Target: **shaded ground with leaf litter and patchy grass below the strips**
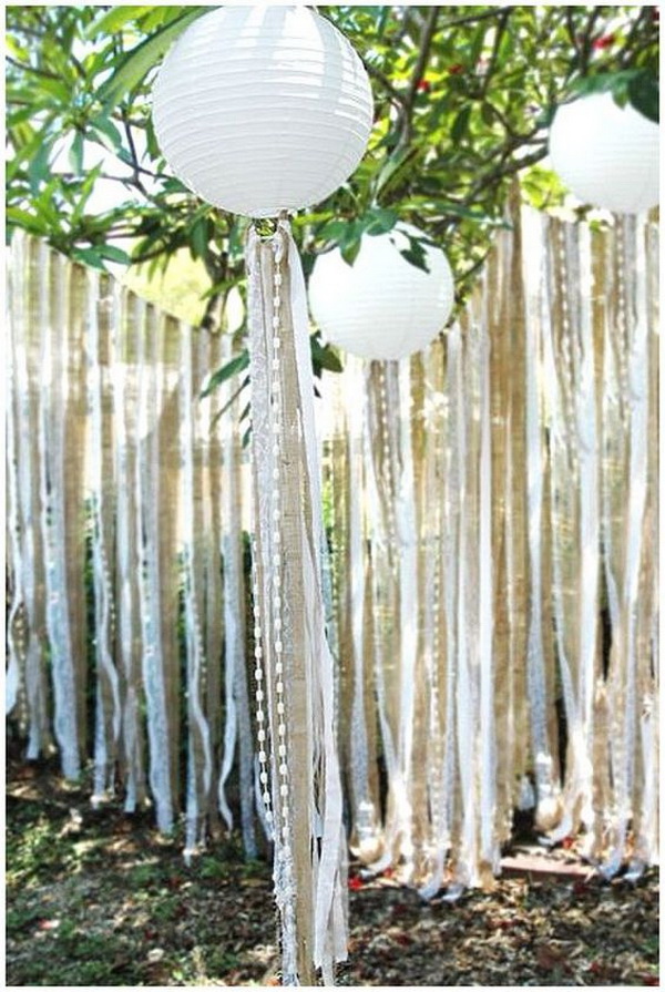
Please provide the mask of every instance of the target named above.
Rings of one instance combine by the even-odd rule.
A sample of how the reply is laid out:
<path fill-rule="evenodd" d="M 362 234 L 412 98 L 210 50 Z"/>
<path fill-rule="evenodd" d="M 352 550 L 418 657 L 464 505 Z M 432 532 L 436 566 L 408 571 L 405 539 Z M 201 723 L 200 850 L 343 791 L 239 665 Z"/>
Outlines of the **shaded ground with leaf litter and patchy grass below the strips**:
<path fill-rule="evenodd" d="M 187 868 L 150 814 L 94 811 L 52 766 L 9 764 L 8 985 L 275 985 L 270 873 L 217 843 Z M 539 880 L 535 880 L 535 879 Z M 424 903 L 351 865 L 341 985 L 657 985 L 658 876 L 502 878 Z"/>

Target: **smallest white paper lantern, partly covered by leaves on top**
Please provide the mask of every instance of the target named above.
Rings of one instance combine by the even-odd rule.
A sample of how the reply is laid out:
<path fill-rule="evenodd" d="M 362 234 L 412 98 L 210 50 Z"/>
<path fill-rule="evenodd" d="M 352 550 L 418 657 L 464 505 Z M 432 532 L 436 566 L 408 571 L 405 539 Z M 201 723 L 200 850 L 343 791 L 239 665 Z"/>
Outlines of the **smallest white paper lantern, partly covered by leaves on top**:
<path fill-rule="evenodd" d="M 331 344 L 370 359 L 406 358 L 420 351 L 450 317 L 454 286 L 443 252 L 424 245 L 423 272 L 400 253 L 407 234 L 424 237 L 400 223 L 387 234 L 364 235 L 354 265 L 339 249 L 316 260 L 309 279 L 311 316 Z"/>

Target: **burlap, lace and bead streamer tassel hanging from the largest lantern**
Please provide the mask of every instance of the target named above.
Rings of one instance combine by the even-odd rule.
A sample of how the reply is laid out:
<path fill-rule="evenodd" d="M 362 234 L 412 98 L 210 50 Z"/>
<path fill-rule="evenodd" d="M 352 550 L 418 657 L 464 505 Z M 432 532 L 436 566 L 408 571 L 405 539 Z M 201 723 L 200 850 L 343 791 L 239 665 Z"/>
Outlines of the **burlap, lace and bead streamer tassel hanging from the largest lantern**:
<path fill-rule="evenodd" d="M 311 984 L 313 967 L 331 983 L 332 962 L 346 955 L 341 787 L 305 285 L 286 222 L 265 243 L 250 229 L 247 263 L 258 618 L 284 983 Z"/>

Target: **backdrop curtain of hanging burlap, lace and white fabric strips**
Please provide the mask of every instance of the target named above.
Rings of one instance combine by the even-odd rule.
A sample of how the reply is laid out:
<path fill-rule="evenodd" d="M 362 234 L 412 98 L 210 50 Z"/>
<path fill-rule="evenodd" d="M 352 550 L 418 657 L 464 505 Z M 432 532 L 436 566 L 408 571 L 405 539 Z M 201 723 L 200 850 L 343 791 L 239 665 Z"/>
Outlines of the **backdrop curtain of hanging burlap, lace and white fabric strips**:
<path fill-rule="evenodd" d="M 438 341 L 316 400 L 347 835 L 426 897 L 491 884 L 520 809 L 607 877 L 658 857 L 658 231 L 513 221 Z M 253 857 L 231 339 L 19 235 L 7 306 L 10 733 Z"/>

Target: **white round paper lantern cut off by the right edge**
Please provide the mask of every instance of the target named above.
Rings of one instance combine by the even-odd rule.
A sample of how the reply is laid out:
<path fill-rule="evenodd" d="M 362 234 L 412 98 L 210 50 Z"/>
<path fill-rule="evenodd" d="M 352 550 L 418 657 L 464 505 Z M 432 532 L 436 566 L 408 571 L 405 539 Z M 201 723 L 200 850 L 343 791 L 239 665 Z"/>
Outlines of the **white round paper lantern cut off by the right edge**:
<path fill-rule="evenodd" d="M 611 93 L 559 108 L 550 130 L 554 171 L 584 203 L 637 214 L 658 202 L 658 125 Z"/>

